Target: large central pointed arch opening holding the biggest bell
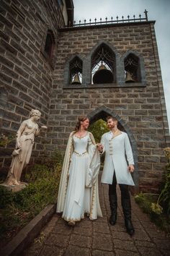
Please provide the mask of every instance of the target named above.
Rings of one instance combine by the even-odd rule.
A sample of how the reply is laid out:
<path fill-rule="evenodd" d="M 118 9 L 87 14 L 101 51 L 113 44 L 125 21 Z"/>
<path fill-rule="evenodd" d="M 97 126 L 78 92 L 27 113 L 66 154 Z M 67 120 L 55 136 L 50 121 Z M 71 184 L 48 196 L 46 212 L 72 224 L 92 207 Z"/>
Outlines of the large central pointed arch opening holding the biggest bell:
<path fill-rule="evenodd" d="M 103 43 L 91 58 L 91 84 L 113 83 L 115 74 L 115 54 Z"/>

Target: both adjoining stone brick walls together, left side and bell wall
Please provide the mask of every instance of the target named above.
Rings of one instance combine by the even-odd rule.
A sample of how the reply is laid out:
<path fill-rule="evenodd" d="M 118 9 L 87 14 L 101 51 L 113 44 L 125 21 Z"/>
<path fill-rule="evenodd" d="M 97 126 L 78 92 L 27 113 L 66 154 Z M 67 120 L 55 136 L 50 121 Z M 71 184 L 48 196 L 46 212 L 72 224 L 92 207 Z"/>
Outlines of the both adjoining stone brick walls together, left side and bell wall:
<path fill-rule="evenodd" d="M 58 1 L 1 0 L 0 4 L 0 126 L 16 134 L 31 108 L 42 113 L 48 132 L 37 137 L 31 163 L 64 150 L 77 116 L 91 122 L 117 116 L 128 133 L 135 157 L 135 183 L 143 191 L 157 191 L 164 174 L 164 148 L 169 146 L 164 89 L 154 22 L 96 27 L 64 27 Z M 47 31 L 52 30 L 52 59 L 44 53 Z M 116 56 L 117 82 L 91 85 L 91 56 L 100 43 Z M 123 60 L 128 53 L 140 59 L 141 81 L 125 83 Z M 69 61 L 83 61 L 82 85 L 68 85 Z M 0 147 L 0 174 L 6 174 L 14 141 Z"/>

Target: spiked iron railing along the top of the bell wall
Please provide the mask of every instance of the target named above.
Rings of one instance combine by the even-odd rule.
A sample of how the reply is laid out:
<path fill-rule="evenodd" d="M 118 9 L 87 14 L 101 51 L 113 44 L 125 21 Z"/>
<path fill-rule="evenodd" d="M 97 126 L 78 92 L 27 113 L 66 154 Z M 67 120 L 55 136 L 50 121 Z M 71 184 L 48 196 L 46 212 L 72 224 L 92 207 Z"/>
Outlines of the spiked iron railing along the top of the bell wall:
<path fill-rule="evenodd" d="M 84 26 L 95 26 L 95 25 L 107 25 L 107 24 L 114 24 L 114 23 L 124 23 L 124 22 L 147 22 L 148 21 L 148 12 L 145 9 L 145 17 L 142 17 L 141 14 L 139 14 L 138 17 L 136 17 L 135 15 L 133 15 L 133 18 L 130 18 L 130 15 L 128 15 L 128 17 L 125 19 L 124 16 L 122 16 L 122 19 L 119 20 L 119 17 L 116 17 L 116 20 L 113 19 L 113 17 L 111 17 L 111 20 L 108 20 L 108 18 L 106 17 L 105 20 L 103 21 L 102 18 L 99 19 L 99 22 L 97 22 L 97 19 L 94 19 L 94 22 L 89 19 L 89 22 L 87 22 L 86 20 L 84 20 L 83 23 L 81 23 L 81 20 L 79 20 L 78 23 L 76 23 L 76 21 L 73 22 L 73 25 L 68 25 L 66 27 L 84 27 Z M 70 23 L 71 24 L 71 23 Z"/>

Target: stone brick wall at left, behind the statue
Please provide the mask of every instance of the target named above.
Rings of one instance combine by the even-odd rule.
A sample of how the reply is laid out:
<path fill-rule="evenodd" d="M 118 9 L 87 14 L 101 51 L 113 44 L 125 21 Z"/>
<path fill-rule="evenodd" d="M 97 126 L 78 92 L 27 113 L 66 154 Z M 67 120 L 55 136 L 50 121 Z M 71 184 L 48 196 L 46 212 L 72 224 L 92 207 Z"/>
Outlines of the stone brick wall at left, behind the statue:
<path fill-rule="evenodd" d="M 32 108 L 41 111 L 40 123 L 47 124 L 58 27 L 63 25 L 55 0 L 1 0 L 0 128 L 4 135 L 15 135 Z M 44 55 L 48 30 L 52 30 L 55 37 L 52 61 Z M 36 138 L 32 161 L 44 152 L 44 137 L 42 134 Z M 9 168 L 13 148 L 14 142 L 0 148 L 1 171 Z"/>

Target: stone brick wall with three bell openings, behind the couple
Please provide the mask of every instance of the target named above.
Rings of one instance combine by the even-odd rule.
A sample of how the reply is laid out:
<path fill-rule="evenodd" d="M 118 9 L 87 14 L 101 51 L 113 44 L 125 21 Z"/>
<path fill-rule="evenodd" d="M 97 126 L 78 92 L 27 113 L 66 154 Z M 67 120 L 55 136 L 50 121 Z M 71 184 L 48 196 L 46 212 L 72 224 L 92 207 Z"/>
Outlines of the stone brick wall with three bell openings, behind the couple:
<path fill-rule="evenodd" d="M 166 159 L 163 149 L 169 145 L 169 129 L 154 23 L 70 28 L 60 32 L 50 98 L 50 143 L 47 149 L 53 150 L 56 145 L 66 148 L 77 116 L 89 115 L 93 121 L 114 114 L 128 135 L 134 137 L 130 142 L 137 163 L 135 182 L 143 191 L 156 191 L 164 173 Z M 130 50 L 142 56 L 146 82 L 130 85 L 117 82 L 110 86 L 66 85 L 64 76 L 69 59 L 79 54 L 85 60 L 85 69 L 89 69 L 86 59 L 102 41 L 115 48 L 120 59 Z"/>

